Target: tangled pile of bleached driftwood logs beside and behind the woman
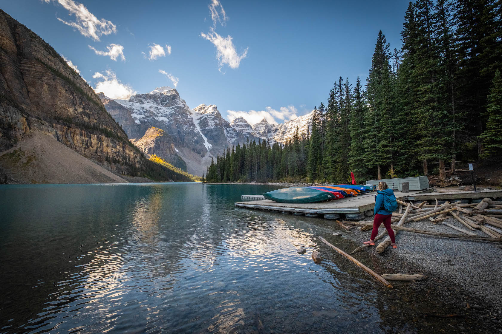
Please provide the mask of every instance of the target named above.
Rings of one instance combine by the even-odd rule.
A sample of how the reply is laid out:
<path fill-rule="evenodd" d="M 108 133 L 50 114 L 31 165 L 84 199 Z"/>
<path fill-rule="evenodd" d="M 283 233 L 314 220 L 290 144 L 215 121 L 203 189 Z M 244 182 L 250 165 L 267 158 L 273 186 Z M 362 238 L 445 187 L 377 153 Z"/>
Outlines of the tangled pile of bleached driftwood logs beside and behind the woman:
<path fill-rule="evenodd" d="M 399 210 L 398 212 L 392 214 L 393 218 L 391 220 L 393 223 L 398 222 L 397 224 L 391 225 L 396 235 L 398 234 L 398 231 L 407 231 L 448 238 L 502 242 L 502 219 L 500 219 L 502 218 L 502 202 L 496 202 L 492 201 L 490 198 L 484 198 L 480 203 L 469 204 L 461 204 L 461 201 L 457 201 L 454 203 L 446 202 L 438 205 L 437 199 L 435 205 L 427 204 L 427 202 L 414 205 L 400 200 L 398 200 L 398 203 L 400 204 Z M 403 213 L 404 206 L 406 206 L 406 210 Z M 450 218 L 450 216 L 463 224 L 467 230 L 458 228 L 443 221 Z M 441 222 L 442 224 L 463 234 L 439 233 L 403 226 L 408 222 L 420 221 L 424 219 L 428 219 L 433 224 Z M 361 230 L 369 230 L 373 225 L 372 222 L 350 221 L 344 221 L 343 224 L 362 225 Z M 487 237 L 481 237 L 471 232 L 475 230 L 482 231 L 483 234 L 487 235 Z M 384 238 L 386 234 L 387 230 L 383 231 L 375 237 L 375 241 Z M 391 238 L 387 236 L 384 241 L 376 247 L 376 252 L 382 253 L 390 244 Z M 354 254 L 368 246 L 369 245 L 359 246 L 350 254 Z"/>

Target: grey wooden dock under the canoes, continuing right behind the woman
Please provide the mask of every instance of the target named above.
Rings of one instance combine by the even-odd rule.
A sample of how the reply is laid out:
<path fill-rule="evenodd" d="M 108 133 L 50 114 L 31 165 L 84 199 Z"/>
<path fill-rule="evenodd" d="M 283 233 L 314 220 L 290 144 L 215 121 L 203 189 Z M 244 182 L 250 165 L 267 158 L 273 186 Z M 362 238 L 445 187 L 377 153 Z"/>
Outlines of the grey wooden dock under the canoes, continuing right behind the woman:
<path fill-rule="evenodd" d="M 403 193 L 395 191 L 396 198 L 400 200 L 410 201 L 434 201 L 448 199 L 476 199 L 489 197 L 495 199 L 502 197 L 502 190 L 486 190 L 486 191 L 452 191 L 452 192 L 433 192 L 434 189 L 429 188 L 422 191 L 410 191 Z M 341 214 L 346 214 L 347 219 L 362 219 L 364 216 L 373 215 L 375 203 L 374 196 L 376 192 L 369 192 L 354 197 L 346 197 L 342 199 L 332 200 L 320 203 L 278 203 L 271 200 L 259 200 L 262 195 L 244 195 L 246 198 L 253 197 L 253 200 L 246 200 L 235 203 L 235 206 L 241 208 L 272 210 L 280 212 L 291 212 L 294 214 L 306 214 L 308 216 L 324 215 L 327 219 L 338 219 Z M 244 199 L 242 196 L 242 199 Z M 364 215 L 364 213 L 366 213 Z"/>

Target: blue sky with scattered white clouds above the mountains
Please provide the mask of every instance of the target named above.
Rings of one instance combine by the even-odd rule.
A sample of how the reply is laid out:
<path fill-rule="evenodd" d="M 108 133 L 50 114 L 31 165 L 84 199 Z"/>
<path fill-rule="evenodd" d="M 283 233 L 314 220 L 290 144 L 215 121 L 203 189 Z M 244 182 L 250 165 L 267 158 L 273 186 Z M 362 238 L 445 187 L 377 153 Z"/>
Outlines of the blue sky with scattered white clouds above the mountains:
<path fill-rule="evenodd" d="M 401 47 L 409 2 L 0 0 L 110 98 L 176 88 L 229 121 L 309 113 L 338 77 L 365 83 L 379 30 Z"/>

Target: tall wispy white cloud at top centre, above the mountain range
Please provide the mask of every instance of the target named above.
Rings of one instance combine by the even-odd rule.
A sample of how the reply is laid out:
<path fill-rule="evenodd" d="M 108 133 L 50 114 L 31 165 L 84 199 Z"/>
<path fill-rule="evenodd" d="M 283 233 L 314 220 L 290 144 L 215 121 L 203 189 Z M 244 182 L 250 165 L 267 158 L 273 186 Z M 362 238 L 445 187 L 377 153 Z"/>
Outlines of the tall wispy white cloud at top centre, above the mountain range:
<path fill-rule="evenodd" d="M 235 50 L 230 35 L 222 37 L 216 33 L 217 24 L 220 23 L 221 26 L 225 26 L 228 20 L 225 10 L 218 0 L 211 0 L 209 4 L 209 13 L 211 14 L 213 26 L 209 28 L 209 33 L 200 33 L 200 37 L 208 40 L 216 47 L 216 59 L 218 60 L 218 70 L 220 72 L 224 65 L 228 65 L 231 69 L 238 68 L 240 61 L 246 58 L 248 48 L 239 55 Z"/>

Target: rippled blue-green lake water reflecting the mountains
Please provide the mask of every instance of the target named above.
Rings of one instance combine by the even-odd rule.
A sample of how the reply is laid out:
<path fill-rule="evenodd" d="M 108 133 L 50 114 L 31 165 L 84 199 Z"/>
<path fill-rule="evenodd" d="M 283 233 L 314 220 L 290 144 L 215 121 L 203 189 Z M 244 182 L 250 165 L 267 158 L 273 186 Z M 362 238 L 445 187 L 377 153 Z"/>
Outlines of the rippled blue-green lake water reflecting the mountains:
<path fill-rule="evenodd" d="M 319 241 L 357 247 L 332 235 L 336 223 L 233 205 L 277 188 L 0 186 L 0 332 L 358 333 L 437 325 L 417 321 L 399 296 Z M 296 252 L 300 246 L 306 254 Z"/>

